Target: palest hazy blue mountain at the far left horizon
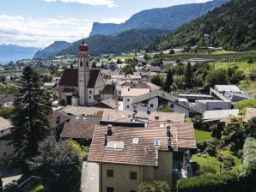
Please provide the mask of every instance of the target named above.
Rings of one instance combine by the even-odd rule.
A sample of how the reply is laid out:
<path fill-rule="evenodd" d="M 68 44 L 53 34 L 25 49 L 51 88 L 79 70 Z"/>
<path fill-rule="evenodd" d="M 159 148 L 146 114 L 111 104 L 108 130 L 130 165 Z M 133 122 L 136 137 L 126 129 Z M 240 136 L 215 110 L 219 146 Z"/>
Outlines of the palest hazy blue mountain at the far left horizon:
<path fill-rule="evenodd" d="M 17 45 L 0 45 L 0 63 L 7 64 L 20 59 L 32 58 L 39 48 Z"/>

